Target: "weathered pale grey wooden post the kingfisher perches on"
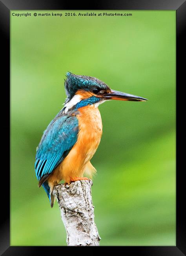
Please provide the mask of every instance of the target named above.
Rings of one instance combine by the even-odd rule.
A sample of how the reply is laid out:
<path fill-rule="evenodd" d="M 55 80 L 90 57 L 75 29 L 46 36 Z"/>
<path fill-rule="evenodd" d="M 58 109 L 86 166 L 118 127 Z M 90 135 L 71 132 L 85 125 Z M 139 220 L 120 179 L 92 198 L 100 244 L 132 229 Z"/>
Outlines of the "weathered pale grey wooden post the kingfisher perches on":
<path fill-rule="evenodd" d="M 66 228 L 67 245 L 99 245 L 101 238 L 94 222 L 91 186 L 91 180 L 78 180 L 66 186 L 60 184 L 53 189 Z"/>

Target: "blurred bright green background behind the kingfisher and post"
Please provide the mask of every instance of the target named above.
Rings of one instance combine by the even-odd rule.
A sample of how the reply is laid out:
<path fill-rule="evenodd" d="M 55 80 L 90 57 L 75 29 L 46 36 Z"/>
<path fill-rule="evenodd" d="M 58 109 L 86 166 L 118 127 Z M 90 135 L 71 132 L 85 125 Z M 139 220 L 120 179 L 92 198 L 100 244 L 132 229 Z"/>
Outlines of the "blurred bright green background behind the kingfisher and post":
<path fill-rule="evenodd" d="M 66 245 L 34 162 L 66 98 L 67 71 L 149 99 L 99 107 L 103 135 L 91 163 L 100 245 L 175 245 L 175 11 L 28 12 L 11 15 L 11 245 Z"/>

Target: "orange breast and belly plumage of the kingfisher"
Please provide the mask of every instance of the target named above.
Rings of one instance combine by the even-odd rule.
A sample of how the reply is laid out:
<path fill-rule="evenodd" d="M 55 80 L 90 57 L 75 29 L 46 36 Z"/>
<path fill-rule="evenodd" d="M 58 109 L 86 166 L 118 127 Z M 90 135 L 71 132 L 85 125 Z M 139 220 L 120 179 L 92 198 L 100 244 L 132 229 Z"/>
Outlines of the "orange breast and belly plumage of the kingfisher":
<path fill-rule="evenodd" d="M 102 135 L 102 121 L 98 108 L 94 105 L 78 109 L 79 133 L 77 143 L 50 176 L 50 182 L 69 182 L 71 178 L 82 177 L 89 161 L 95 154 Z M 94 169 L 94 168 L 93 168 Z"/>

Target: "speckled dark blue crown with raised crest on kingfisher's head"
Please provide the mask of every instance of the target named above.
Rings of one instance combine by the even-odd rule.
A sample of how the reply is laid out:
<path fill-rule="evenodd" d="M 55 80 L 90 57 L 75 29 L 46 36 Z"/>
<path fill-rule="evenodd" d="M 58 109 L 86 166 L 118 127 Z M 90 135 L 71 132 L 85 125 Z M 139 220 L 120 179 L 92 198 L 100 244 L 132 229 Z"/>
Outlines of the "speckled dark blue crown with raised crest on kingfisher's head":
<path fill-rule="evenodd" d="M 79 76 L 72 74 L 70 72 L 66 73 L 65 80 L 65 90 L 68 98 L 72 98 L 73 95 L 79 90 L 83 89 L 86 91 L 91 91 L 95 87 L 107 90 L 109 87 L 106 83 L 100 81 L 99 79 L 91 76 Z"/>

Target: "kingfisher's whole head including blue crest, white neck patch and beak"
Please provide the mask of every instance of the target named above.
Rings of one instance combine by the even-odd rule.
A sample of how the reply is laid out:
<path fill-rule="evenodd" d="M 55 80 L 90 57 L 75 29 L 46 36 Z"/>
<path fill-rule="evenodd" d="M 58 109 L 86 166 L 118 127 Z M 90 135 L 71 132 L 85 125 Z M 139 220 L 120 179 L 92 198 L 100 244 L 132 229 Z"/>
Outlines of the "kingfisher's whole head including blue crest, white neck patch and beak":
<path fill-rule="evenodd" d="M 65 80 L 65 90 L 67 99 L 65 102 L 66 111 L 73 106 L 80 108 L 91 104 L 97 106 L 106 100 L 128 100 L 128 101 L 146 101 L 136 95 L 122 93 L 109 88 L 106 83 L 91 76 L 79 76 L 67 72 Z"/>

